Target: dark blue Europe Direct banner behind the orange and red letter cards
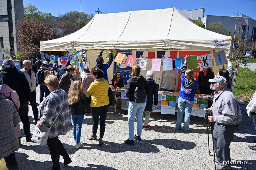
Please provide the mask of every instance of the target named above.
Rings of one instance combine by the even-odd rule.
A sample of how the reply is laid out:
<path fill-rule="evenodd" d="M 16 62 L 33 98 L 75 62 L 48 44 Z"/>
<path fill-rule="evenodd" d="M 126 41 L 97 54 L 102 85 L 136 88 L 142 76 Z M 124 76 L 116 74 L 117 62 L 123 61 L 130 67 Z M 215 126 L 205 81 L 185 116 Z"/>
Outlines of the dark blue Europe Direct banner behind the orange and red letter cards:
<path fill-rule="evenodd" d="M 115 67 L 117 67 L 116 71 L 119 71 L 121 73 L 121 77 L 123 78 L 123 84 L 126 84 L 127 80 L 131 77 L 131 67 L 126 66 L 126 60 L 129 55 L 131 55 L 131 50 L 117 50 L 117 52 L 121 52 L 125 54 L 125 58 L 120 63 L 113 62 L 114 64 L 114 70 L 113 70 L 113 76 L 115 75 Z"/>

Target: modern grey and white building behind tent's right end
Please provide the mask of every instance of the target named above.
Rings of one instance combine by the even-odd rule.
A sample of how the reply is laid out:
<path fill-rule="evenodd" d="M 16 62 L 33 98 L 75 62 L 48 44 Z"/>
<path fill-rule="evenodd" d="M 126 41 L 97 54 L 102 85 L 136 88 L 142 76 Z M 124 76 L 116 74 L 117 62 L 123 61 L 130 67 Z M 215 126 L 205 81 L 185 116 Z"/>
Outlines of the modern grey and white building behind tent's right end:
<path fill-rule="evenodd" d="M 240 20 L 240 38 L 244 40 L 244 54 L 245 51 L 249 50 L 249 46 L 252 42 L 256 42 L 256 20 L 250 18 L 246 15 L 238 16 L 215 16 L 215 15 L 206 15 L 204 17 L 197 18 L 198 21 L 202 21 L 205 26 L 209 26 L 213 22 L 221 22 L 224 27 L 229 29 L 228 35 L 238 36 L 238 25 Z M 236 33 L 235 33 L 236 25 Z"/>

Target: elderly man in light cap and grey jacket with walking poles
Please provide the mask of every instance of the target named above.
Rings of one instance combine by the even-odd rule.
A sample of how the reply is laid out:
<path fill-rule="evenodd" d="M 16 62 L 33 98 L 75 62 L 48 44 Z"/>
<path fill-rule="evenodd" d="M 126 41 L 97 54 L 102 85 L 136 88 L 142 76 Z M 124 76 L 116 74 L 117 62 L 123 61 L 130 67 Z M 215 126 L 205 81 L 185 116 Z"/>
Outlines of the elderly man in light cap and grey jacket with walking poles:
<path fill-rule="evenodd" d="M 231 169 L 229 146 L 242 121 L 240 106 L 234 94 L 226 87 L 226 78 L 216 76 L 209 79 L 209 82 L 217 94 L 214 96 L 212 107 L 204 111 L 212 112 L 213 116 L 208 116 L 209 122 L 216 122 L 213 130 L 214 150 L 218 160 L 216 169 Z"/>

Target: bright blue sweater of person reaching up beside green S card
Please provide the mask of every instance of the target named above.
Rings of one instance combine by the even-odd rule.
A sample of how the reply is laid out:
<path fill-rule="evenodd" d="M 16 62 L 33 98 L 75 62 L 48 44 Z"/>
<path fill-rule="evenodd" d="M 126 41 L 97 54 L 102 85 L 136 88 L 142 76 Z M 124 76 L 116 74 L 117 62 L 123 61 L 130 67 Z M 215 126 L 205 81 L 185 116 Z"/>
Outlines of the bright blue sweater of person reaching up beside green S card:
<path fill-rule="evenodd" d="M 181 68 L 181 75 L 180 75 L 180 90 L 179 90 L 179 97 L 183 99 L 194 101 L 195 97 L 195 90 L 198 88 L 198 81 L 194 80 L 195 84 L 191 88 L 187 88 L 185 85 L 185 81 L 187 81 L 187 77 L 185 76 L 185 71 L 187 69 L 187 63 L 184 63 Z"/>

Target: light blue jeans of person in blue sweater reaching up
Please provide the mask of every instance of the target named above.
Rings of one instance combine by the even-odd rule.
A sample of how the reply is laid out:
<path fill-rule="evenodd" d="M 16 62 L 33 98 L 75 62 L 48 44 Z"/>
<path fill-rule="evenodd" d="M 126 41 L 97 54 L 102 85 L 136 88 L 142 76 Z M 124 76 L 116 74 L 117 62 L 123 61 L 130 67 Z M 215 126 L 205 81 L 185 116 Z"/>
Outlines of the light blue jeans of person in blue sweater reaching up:
<path fill-rule="evenodd" d="M 193 101 L 189 101 L 186 99 L 183 99 L 182 97 L 179 97 L 178 100 L 178 113 L 177 113 L 177 122 L 176 122 L 176 129 L 181 128 L 181 121 L 183 118 L 183 112 L 185 110 L 185 118 L 184 118 L 184 126 L 183 130 L 187 132 L 189 130 L 189 121 L 190 121 L 190 114 L 193 108 Z"/>

